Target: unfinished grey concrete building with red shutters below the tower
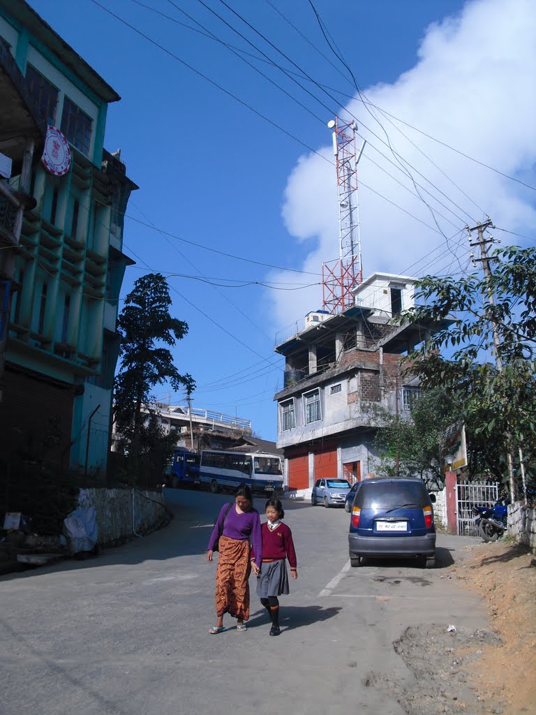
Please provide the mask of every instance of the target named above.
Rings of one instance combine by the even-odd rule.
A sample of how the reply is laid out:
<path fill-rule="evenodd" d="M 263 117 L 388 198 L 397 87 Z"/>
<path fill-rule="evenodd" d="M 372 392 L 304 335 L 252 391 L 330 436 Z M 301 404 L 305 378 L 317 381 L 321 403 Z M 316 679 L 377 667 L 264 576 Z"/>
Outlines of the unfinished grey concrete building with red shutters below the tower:
<path fill-rule="evenodd" d="M 311 312 L 304 329 L 277 345 L 284 388 L 277 400 L 277 446 L 285 484 L 308 495 L 322 477 L 360 480 L 374 468 L 373 405 L 409 414 L 418 382 L 402 375 L 400 357 L 437 325 L 400 325 L 414 305 L 415 278 L 374 273 L 338 315 Z"/>

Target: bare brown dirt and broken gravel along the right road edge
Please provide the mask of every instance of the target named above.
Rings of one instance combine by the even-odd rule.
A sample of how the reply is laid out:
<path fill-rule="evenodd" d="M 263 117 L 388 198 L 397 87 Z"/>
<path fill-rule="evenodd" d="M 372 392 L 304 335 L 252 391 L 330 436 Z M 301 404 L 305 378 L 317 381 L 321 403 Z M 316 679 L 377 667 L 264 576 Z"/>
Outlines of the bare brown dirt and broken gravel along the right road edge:
<path fill-rule="evenodd" d="M 505 541 L 478 544 L 440 578 L 478 591 L 491 629 L 407 628 L 393 648 L 411 675 L 395 680 L 371 673 L 364 684 L 384 691 L 407 715 L 536 713 L 535 559 Z"/>

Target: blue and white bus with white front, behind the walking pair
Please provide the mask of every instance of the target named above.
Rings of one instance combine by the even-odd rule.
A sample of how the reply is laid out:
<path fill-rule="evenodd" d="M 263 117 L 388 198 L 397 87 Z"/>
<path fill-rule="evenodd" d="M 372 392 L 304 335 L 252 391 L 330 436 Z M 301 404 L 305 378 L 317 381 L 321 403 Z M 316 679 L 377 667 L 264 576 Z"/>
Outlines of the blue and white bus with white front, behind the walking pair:
<path fill-rule="evenodd" d="M 212 493 L 247 484 L 252 491 L 278 493 L 283 488 L 281 457 L 259 452 L 201 451 L 199 480 Z"/>

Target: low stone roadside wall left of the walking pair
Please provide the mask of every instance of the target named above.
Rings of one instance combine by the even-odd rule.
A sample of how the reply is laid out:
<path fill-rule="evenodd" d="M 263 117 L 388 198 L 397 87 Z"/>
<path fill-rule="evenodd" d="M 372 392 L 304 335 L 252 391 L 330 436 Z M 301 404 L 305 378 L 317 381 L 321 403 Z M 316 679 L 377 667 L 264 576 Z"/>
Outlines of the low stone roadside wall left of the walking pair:
<path fill-rule="evenodd" d="M 164 497 L 162 493 L 154 491 L 81 489 L 78 504 L 81 507 L 95 507 L 101 546 L 124 543 L 134 536 L 134 531 L 143 535 L 163 526 L 167 521 Z"/>

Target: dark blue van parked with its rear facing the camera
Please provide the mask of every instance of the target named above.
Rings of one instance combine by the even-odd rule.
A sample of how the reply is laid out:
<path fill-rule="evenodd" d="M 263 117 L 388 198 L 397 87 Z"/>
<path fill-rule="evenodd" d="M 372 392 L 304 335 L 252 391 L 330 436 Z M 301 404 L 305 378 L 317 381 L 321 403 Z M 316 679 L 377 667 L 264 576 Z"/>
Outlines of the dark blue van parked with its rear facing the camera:
<path fill-rule="evenodd" d="M 363 557 L 418 557 L 435 566 L 435 524 L 432 501 L 421 479 L 367 479 L 359 483 L 351 508 L 348 545 L 350 563 Z"/>

